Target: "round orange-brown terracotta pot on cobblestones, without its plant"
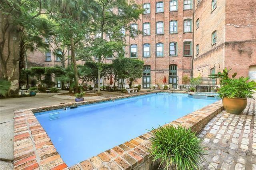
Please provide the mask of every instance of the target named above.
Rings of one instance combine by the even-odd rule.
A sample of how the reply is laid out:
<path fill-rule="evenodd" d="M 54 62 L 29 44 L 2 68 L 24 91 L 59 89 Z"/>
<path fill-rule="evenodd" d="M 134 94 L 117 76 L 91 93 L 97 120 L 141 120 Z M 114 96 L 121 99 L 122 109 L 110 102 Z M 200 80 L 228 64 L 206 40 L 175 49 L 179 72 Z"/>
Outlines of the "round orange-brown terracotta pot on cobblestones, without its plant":
<path fill-rule="evenodd" d="M 235 98 L 223 97 L 222 105 L 228 113 L 233 113 L 233 114 L 239 115 L 246 108 L 247 99 L 246 98 L 237 98 L 237 97 L 235 97 Z"/>

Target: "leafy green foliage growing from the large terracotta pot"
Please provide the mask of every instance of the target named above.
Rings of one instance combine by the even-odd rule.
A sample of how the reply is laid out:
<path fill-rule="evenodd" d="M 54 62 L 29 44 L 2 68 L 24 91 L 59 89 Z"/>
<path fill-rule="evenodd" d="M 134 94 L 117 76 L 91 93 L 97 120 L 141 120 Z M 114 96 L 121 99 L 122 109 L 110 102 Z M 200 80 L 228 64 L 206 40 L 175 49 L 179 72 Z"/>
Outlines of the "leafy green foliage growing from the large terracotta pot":
<path fill-rule="evenodd" d="M 247 82 L 249 78 L 240 77 L 239 79 L 225 79 L 225 84 L 222 84 L 218 93 L 220 97 L 228 98 L 253 98 L 252 91 L 255 88 L 254 82 Z"/>

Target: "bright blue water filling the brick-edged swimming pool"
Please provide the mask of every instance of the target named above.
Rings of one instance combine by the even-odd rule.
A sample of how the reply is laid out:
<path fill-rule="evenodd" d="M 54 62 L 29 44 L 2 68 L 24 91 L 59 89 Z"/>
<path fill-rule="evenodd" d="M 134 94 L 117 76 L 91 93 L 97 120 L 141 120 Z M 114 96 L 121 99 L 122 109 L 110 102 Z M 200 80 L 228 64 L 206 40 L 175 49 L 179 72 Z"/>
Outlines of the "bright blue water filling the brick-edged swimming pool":
<path fill-rule="evenodd" d="M 215 101 L 154 93 L 35 115 L 64 162 L 72 166 Z"/>

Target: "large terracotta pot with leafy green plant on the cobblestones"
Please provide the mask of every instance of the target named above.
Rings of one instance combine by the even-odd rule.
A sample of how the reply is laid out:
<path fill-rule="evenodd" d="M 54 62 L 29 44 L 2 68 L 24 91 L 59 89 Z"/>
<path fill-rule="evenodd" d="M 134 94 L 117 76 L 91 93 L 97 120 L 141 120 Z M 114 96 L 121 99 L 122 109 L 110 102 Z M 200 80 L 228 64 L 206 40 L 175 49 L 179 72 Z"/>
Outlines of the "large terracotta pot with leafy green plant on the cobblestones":
<path fill-rule="evenodd" d="M 247 105 L 247 98 L 253 98 L 254 82 L 247 82 L 249 78 L 227 79 L 221 85 L 218 93 L 222 98 L 224 109 L 228 113 L 240 114 Z"/>

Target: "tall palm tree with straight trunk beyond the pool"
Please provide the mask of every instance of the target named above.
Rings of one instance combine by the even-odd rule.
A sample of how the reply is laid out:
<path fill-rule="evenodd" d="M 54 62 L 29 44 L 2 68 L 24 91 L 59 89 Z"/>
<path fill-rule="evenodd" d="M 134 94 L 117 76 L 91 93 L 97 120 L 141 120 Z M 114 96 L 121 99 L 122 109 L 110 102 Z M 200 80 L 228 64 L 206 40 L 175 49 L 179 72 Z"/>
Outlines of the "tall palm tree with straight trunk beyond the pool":
<path fill-rule="evenodd" d="M 59 24 L 65 40 L 70 40 L 71 61 L 74 69 L 74 89 L 78 88 L 78 71 L 75 57 L 75 44 L 84 39 L 86 28 L 97 5 L 94 0 L 52 0 L 51 6 L 55 9 L 51 18 Z"/>

